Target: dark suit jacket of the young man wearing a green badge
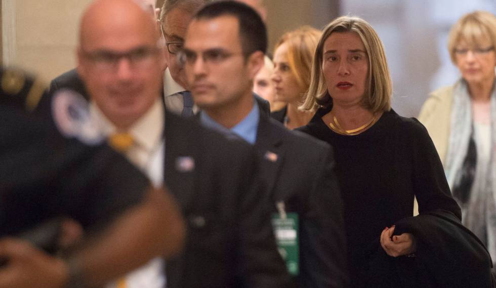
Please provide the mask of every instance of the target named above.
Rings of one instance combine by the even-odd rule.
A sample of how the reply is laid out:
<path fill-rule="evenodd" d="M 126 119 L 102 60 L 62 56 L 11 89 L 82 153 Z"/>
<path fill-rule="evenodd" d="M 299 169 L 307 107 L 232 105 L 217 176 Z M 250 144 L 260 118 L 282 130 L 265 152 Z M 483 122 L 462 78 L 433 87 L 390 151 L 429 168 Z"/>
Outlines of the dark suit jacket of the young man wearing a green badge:
<path fill-rule="evenodd" d="M 271 202 L 300 220 L 300 287 L 346 287 L 343 203 L 330 146 L 260 113 L 255 147 Z M 267 157 L 277 154 L 277 159 Z M 275 209 L 275 204 L 273 205 Z"/>

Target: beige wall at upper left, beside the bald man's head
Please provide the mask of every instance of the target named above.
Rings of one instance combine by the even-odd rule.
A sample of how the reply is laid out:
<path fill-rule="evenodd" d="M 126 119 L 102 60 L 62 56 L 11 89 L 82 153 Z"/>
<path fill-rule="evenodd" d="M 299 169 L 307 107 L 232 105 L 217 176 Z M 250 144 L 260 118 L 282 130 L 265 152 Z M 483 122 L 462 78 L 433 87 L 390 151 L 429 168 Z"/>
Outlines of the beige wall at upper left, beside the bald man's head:
<path fill-rule="evenodd" d="M 91 0 L 3 0 L 3 61 L 49 81 L 73 68 L 78 21 Z"/>

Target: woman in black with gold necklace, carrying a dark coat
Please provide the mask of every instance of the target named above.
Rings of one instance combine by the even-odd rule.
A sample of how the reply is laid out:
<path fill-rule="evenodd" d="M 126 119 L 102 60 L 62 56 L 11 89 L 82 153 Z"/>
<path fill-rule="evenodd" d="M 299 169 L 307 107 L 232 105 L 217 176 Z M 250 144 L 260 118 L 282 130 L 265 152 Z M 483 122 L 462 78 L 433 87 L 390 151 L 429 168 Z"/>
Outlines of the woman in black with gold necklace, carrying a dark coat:
<path fill-rule="evenodd" d="M 391 95 L 370 24 L 349 16 L 328 24 L 301 107 L 315 115 L 299 130 L 334 148 L 351 287 L 489 287 L 489 255 L 462 226 L 426 129 L 391 109 Z"/>

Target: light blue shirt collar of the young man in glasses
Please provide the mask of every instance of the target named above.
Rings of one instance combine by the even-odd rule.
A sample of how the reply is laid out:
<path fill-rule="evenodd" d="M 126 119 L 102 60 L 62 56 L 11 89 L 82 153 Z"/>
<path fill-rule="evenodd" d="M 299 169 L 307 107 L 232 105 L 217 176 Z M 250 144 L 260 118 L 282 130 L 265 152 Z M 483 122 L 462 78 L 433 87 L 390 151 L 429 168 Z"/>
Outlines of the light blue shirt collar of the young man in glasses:
<path fill-rule="evenodd" d="M 246 142 L 250 144 L 255 144 L 257 141 L 257 130 L 258 130 L 258 121 L 260 118 L 260 112 L 258 108 L 257 101 L 253 101 L 253 108 L 242 119 L 238 124 L 236 124 L 233 128 L 227 129 L 224 126 L 217 123 L 214 119 L 212 119 L 209 115 L 205 113 L 205 111 L 201 111 L 200 113 L 200 121 L 203 126 L 217 130 L 226 135 L 235 134 L 241 138 L 243 138 Z"/>

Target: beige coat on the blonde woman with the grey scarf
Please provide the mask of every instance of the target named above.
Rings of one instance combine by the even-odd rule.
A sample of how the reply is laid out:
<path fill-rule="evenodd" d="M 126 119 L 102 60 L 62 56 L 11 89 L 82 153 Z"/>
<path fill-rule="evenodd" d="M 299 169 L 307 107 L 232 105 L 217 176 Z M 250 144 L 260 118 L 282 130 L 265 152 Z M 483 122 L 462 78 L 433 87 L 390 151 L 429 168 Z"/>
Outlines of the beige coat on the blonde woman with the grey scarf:
<path fill-rule="evenodd" d="M 429 96 L 420 110 L 419 121 L 427 128 L 444 166 L 451 129 L 453 86 L 439 88 Z"/>

